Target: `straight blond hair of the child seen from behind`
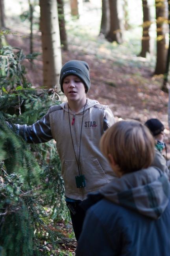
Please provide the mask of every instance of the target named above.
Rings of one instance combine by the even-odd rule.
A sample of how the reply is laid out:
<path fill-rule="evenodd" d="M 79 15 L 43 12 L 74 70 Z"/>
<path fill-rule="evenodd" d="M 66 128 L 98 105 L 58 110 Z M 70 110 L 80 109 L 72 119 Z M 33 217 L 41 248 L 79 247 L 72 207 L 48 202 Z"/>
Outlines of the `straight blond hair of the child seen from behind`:
<path fill-rule="evenodd" d="M 147 168 L 154 158 L 154 139 L 149 129 L 138 121 L 119 121 L 102 136 L 100 149 L 109 154 L 122 173 Z"/>

